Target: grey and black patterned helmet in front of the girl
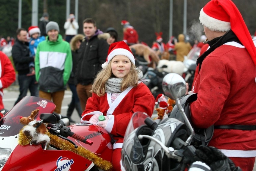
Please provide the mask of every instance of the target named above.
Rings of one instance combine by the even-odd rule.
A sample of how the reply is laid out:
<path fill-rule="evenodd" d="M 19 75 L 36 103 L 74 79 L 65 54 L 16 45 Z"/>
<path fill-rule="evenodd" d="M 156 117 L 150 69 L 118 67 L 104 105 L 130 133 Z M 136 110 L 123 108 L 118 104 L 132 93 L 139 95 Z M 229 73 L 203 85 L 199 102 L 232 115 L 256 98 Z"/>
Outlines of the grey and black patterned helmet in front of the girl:
<path fill-rule="evenodd" d="M 125 170 L 169 170 L 180 171 L 180 163 L 168 158 L 161 146 L 153 140 L 139 135 L 149 135 L 161 141 L 167 147 L 182 148 L 177 138 L 185 141 L 188 137 L 184 123 L 175 118 L 161 120 L 157 127 L 141 125 L 132 131 L 123 142 L 122 164 Z"/>

